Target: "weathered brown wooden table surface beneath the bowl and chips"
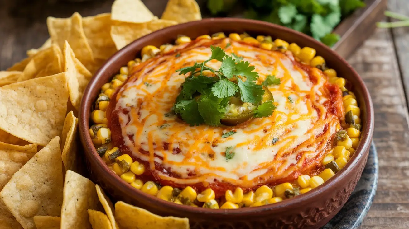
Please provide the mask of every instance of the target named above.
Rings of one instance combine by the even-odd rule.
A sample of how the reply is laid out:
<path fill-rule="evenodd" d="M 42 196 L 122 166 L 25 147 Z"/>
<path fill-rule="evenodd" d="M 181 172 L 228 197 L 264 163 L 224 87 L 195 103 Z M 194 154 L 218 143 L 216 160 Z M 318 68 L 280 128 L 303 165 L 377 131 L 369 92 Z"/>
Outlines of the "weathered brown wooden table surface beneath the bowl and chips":
<path fill-rule="evenodd" d="M 51 2 L 51 1 L 50 1 Z M 166 0 L 145 0 L 160 16 Z M 27 49 L 48 38 L 47 16 L 109 12 L 112 0 L 76 4 L 0 0 L 0 70 L 25 58 Z M 204 9 L 204 7 L 202 7 Z M 409 16 L 406 0 L 389 0 L 389 9 Z M 409 228 L 409 27 L 378 29 L 348 62 L 364 78 L 375 107 L 374 142 L 379 183 L 361 228 Z"/>

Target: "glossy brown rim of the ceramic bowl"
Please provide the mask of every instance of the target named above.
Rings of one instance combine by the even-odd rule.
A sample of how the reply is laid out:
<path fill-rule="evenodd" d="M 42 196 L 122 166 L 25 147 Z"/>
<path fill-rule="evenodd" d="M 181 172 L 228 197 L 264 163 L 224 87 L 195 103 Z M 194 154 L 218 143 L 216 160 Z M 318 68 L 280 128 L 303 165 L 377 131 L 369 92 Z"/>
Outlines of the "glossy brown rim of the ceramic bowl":
<path fill-rule="evenodd" d="M 207 24 L 207 23 L 218 23 L 218 22 L 233 22 L 233 23 L 250 23 L 262 27 L 268 27 L 270 29 L 279 29 L 288 33 L 292 33 L 294 36 L 299 36 L 302 39 L 305 39 L 307 43 L 312 43 L 315 44 L 315 46 L 320 46 L 322 49 L 326 49 L 326 51 L 330 52 L 331 55 L 333 55 L 335 58 L 337 58 L 340 62 L 342 62 L 342 65 L 346 68 L 348 68 L 352 73 L 353 73 L 353 78 L 357 79 L 357 82 L 359 83 L 359 87 L 355 86 L 355 88 L 360 88 L 360 91 L 362 93 L 362 98 L 364 98 L 364 109 L 366 112 L 364 112 L 365 115 L 365 120 L 366 120 L 366 125 L 362 127 L 362 129 L 365 130 L 362 131 L 361 133 L 361 138 L 360 138 L 360 143 L 355 150 L 355 153 L 351 157 L 351 159 L 348 161 L 347 165 L 338 173 L 335 174 L 332 178 L 327 180 L 324 185 L 320 185 L 319 187 L 312 189 L 311 191 L 308 191 L 307 193 L 303 193 L 303 195 L 296 196 L 294 198 L 291 198 L 290 200 L 274 203 L 271 205 L 264 205 L 264 206 L 259 206 L 259 207 L 243 207 L 239 209 L 208 209 L 208 208 L 202 208 L 202 207 L 192 207 L 192 206 L 187 206 L 187 205 L 178 205 L 173 202 L 168 202 L 166 200 L 162 200 L 160 198 L 157 198 L 155 196 L 148 195 L 146 193 L 143 193 L 139 189 L 135 189 L 134 187 L 130 186 L 127 182 L 122 180 L 119 176 L 117 176 L 115 173 L 113 173 L 108 166 L 106 166 L 106 163 L 100 158 L 98 155 L 92 140 L 89 135 L 89 120 L 85 119 L 87 117 L 87 113 L 89 114 L 91 112 L 91 104 L 93 101 L 92 99 L 92 93 L 91 89 L 92 87 L 95 87 L 96 84 L 98 83 L 99 78 L 103 77 L 104 73 L 109 69 L 110 64 L 121 58 L 125 53 L 130 52 L 131 50 L 136 49 L 140 43 L 144 40 L 150 40 L 155 38 L 156 36 L 160 35 L 161 33 L 167 33 L 168 31 L 172 30 L 178 30 L 178 29 L 187 29 L 190 27 L 195 27 L 198 25 L 202 24 Z M 227 29 L 226 29 L 227 30 Z M 234 28 L 230 28 L 229 30 L 234 30 Z M 360 106 L 361 109 L 363 108 L 362 105 Z M 362 115 L 362 113 L 361 113 Z M 361 118 L 363 118 L 361 116 Z M 92 159 L 95 159 L 95 162 L 99 167 L 101 167 L 101 171 L 103 172 L 103 176 L 110 177 L 110 184 L 114 185 L 117 188 L 123 188 L 126 192 L 131 193 L 132 196 L 134 196 L 134 199 L 140 199 L 140 198 L 145 198 L 147 201 L 151 203 L 155 203 L 155 205 L 161 205 L 163 208 L 169 208 L 175 211 L 180 211 L 181 213 L 184 214 L 191 214 L 191 213 L 201 213 L 201 214 L 207 214 L 211 216 L 220 216 L 220 215 L 243 215 L 246 213 L 260 213 L 261 211 L 274 211 L 277 209 L 289 209 L 289 208 L 297 208 L 300 206 L 301 203 L 306 202 L 308 200 L 312 200 L 313 198 L 317 197 L 321 192 L 326 191 L 330 189 L 333 185 L 335 185 L 339 180 L 342 180 L 345 176 L 348 175 L 348 173 L 351 172 L 353 167 L 357 165 L 357 163 L 362 159 L 365 154 L 365 151 L 369 149 L 371 145 L 371 140 L 372 140 L 372 135 L 373 135 L 373 129 L 374 129 L 374 111 L 373 111 L 373 104 L 371 100 L 371 96 L 369 94 L 368 89 L 366 88 L 366 85 L 364 84 L 364 81 L 362 78 L 358 75 L 358 73 L 351 67 L 344 58 L 339 56 L 335 51 L 331 50 L 330 47 L 322 44 L 321 42 L 315 40 L 314 38 L 307 36 L 304 33 L 300 33 L 298 31 L 289 29 L 287 27 L 283 27 L 277 24 L 272 24 L 269 22 L 263 22 L 263 21 L 258 21 L 258 20 L 251 20 L 251 19 L 243 19 L 243 18 L 206 18 L 202 19 L 199 21 L 193 21 L 193 22 L 187 22 L 183 24 L 177 24 L 173 25 L 171 27 L 166 27 L 164 29 L 160 29 L 158 31 L 154 31 L 153 33 L 150 33 L 142 38 L 138 38 L 137 40 L 131 42 L 124 48 L 120 49 L 117 51 L 113 56 L 111 56 L 99 69 L 98 71 L 94 74 L 94 76 L 91 78 L 90 82 L 88 83 L 88 86 L 86 87 L 83 98 L 81 100 L 81 105 L 79 109 L 79 132 L 80 132 L 80 138 L 82 145 L 84 147 L 85 153 L 90 154 Z M 88 160 L 88 159 L 87 159 Z"/>

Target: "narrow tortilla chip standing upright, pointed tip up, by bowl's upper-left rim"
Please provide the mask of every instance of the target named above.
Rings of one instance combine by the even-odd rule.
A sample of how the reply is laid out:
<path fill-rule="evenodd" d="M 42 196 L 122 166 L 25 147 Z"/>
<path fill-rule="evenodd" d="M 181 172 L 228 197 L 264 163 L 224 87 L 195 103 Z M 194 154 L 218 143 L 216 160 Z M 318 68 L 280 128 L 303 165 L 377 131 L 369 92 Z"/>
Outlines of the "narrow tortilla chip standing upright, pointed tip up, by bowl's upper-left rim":
<path fill-rule="evenodd" d="M 70 44 L 65 41 L 64 44 L 64 69 L 68 76 L 68 91 L 70 92 L 70 101 L 72 105 L 78 110 L 79 104 L 85 87 L 89 82 L 91 73 L 84 67 L 84 65 L 75 58 Z"/>

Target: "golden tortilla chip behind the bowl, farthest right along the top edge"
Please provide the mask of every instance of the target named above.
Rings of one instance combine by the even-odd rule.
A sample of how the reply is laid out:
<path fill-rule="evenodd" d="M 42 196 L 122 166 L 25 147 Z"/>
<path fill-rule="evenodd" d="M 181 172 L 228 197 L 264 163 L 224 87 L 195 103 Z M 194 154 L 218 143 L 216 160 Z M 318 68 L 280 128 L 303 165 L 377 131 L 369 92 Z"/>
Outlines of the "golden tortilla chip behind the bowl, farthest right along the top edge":
<path fill-rule="evenodd" d="M 169 0 L 161 19 L 184 23 L 202 20 L 202 15 L 195 0 Z"/>

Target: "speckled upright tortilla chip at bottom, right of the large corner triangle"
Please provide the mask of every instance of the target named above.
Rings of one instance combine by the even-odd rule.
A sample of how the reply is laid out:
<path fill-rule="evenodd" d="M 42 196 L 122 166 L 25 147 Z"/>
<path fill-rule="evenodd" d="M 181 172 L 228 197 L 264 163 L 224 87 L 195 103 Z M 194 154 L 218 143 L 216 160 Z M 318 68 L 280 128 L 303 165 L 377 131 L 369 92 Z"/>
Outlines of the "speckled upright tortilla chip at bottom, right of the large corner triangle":
<path fill-rule="evenodd" d="M 95 184 L 68 170 L 65 174 L 64 201 L 61 210 L 61 229 L 91 229 L 88 209 L 97 209 L 98 195 Z"/>

